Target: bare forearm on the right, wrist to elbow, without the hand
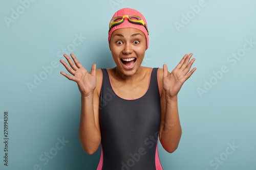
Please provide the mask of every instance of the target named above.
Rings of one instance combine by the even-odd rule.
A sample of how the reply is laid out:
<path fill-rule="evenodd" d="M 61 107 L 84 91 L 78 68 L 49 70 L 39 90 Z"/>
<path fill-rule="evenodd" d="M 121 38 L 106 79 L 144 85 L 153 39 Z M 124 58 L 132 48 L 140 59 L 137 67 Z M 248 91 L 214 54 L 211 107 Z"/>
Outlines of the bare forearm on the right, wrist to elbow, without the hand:
<path fill-rule="evenodd" d="M 161 143 L 166 151 L 172 153 L 178 148 L 181 138 L 181 126 L 178 113 L 177 96 L 174 98 L 165 97 L 166 114 L 164 127 L 161 132 Z"/>

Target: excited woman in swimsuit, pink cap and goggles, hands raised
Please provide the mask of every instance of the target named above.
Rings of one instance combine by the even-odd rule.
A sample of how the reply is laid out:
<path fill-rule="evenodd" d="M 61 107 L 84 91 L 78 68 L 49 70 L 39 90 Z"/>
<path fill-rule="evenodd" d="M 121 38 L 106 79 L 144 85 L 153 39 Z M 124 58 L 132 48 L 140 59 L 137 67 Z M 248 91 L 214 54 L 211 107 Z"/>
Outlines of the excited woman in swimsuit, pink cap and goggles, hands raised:
<path fill-rule="evenodd" d="M 93 154 L 101 143 L 97 169 L 162 169 L 158 137 L 173 153 L 181 137 L 177 95 L 193 74 L 192 54 L 185 55 L 169 73 L 141 66 L 148 48 L 144 16 L 130 8 L 117 11 L 111 19 L 109 45 L 116 67 L 88 72 L 71 54 L 70 66 L 60 62 L 81 92 L 79 139 L 84 152 Z"/>

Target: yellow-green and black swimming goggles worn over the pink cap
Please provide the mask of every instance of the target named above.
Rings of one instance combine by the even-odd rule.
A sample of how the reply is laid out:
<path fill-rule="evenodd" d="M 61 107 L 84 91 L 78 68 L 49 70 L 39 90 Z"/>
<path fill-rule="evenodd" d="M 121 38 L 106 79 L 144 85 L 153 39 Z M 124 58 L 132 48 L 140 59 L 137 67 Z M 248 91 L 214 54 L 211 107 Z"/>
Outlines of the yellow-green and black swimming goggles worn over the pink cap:
<path fill-rule="evenodd" d="M 131 15 L 131 16 L 128 16 L 128 15 L 123 15 L 123 16 L 117 16 L 117 17 L 114 17 L 111 22 L 110 22 L 110 29 L 109 29 L 109 33 L 110 33 L 110 30 L 121 24 L 123 21 L 124 21 L 124 18 L 127 17 L 128 18 L 128 21 L 131 22 L 131 23 L 135 23 L 135 24 L 138 24 L 138 25 L 143 25 L 147 31 L 147 35 L 150 34 L 150 32 L 147 30 L 147 27 L 144 23 L 144 21 L 140 18 L 140 16 L 138 15 Z"/>

